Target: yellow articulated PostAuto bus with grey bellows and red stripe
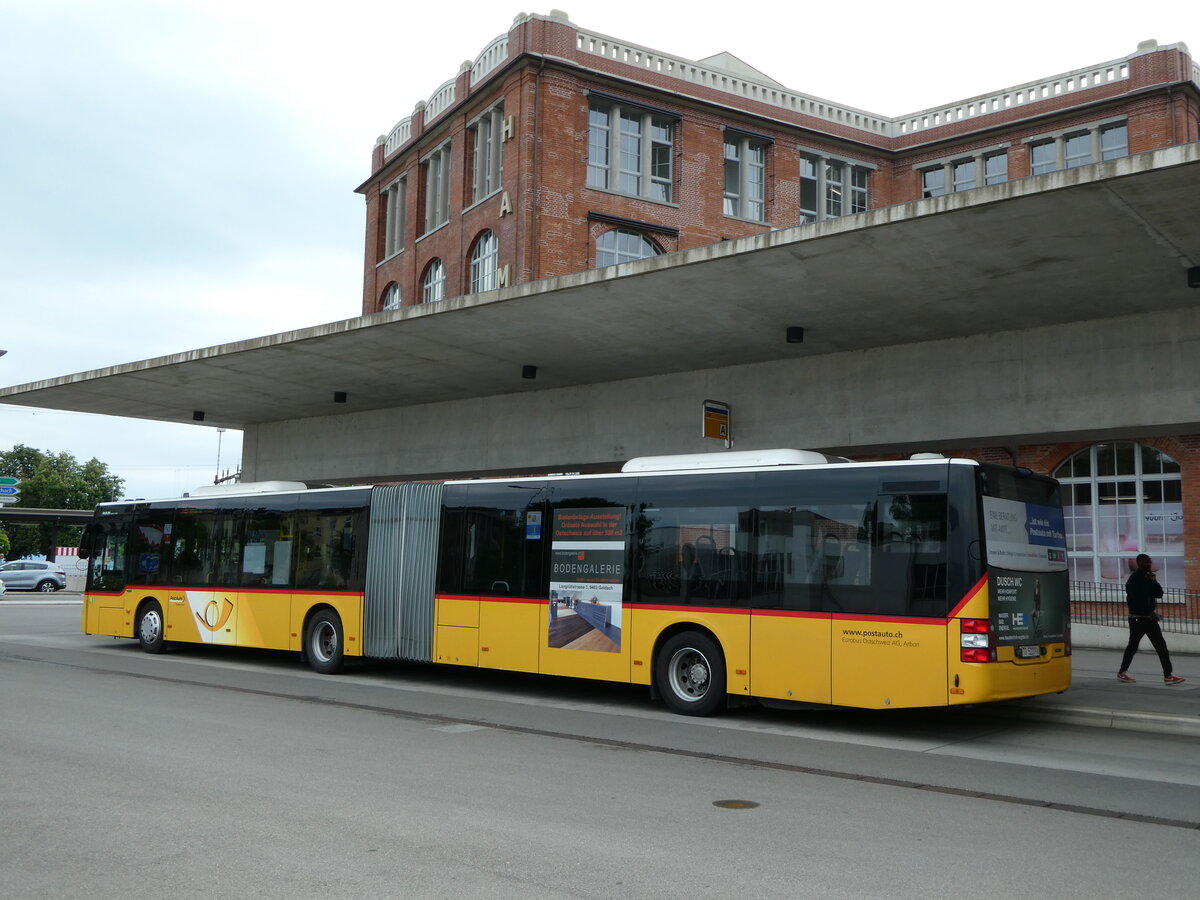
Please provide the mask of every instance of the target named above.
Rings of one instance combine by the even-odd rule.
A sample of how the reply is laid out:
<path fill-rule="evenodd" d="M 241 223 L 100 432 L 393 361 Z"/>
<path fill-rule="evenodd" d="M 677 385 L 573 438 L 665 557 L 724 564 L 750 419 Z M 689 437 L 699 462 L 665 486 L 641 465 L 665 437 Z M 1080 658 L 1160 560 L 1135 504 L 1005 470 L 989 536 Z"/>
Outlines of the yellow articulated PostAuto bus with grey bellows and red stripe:
<path fill-rule="evenodd" d="M 1058 485 L 968 460 L 800 450 L 619 474 L 106 503 L 83 630 L 864 708 L 1070 684 Z"/>

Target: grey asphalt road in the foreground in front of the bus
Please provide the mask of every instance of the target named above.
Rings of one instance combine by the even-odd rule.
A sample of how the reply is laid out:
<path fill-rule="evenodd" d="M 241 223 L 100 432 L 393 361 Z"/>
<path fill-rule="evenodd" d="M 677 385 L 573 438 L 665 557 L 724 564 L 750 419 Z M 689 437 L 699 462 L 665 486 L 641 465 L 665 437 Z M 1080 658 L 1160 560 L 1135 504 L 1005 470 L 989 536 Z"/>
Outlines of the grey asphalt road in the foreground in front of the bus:
<path fill-rule="evenodd" d="M 1194 896 L 1194 738 L 78 632 L 0 604 L 13 898 Z M 730 805 L 718 805 L 724 802 Z"/>

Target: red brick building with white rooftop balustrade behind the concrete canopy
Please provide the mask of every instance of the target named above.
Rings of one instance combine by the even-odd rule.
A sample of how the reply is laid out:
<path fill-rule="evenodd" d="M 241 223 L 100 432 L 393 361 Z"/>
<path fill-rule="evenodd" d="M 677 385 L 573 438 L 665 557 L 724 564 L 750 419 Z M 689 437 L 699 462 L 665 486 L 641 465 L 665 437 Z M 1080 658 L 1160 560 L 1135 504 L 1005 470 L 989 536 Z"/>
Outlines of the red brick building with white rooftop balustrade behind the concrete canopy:
<path fill-rule="evenodd" d="M 1200 139 L 1183 44 L 899 119 L 522 16 L 374 148 L 364 313 Z M 1097 436 L 1100 437 L 1100 436 Z M 1001 443 L 997 439 L 997 443 Z M 1074 577 L 1200 588 L 1200 434 L 938 448 L 1066 482 Z"/>

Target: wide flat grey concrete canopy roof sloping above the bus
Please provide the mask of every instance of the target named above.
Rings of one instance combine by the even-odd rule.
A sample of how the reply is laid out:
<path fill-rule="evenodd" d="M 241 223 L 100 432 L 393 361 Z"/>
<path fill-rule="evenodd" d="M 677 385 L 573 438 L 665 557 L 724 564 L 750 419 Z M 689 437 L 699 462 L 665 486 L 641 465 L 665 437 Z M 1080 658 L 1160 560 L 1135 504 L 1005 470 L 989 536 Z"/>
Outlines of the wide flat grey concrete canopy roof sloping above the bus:
<path fill-rule="evenodd" d="M 1193 143 L 4 388 L 0 402 L 173 422 L 204 410 L 205 425 L 245 428 L 1190 310 L 1198 187 Z M 793 325 L 803 343 L 786 342 Z"/>

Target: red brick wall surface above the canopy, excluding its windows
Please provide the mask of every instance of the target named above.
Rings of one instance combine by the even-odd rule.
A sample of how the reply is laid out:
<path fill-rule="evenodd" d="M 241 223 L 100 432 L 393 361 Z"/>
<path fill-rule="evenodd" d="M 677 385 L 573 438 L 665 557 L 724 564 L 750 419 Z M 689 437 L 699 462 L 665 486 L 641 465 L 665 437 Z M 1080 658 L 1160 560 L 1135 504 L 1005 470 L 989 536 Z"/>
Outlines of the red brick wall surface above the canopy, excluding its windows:
<path fill-rule="evenodd" d="M 364 313 L 382 307 L 392 283 L 400 286 L 404 305 L 420 302 L 422 278 L 433 259 L 445 265 L 445 296 L 469 293 L 470 252 L 486 229 L 496 233 L 499 264 L 509 266 L 509 283 L 516 284 L 593 268 L 595 238 L 620 227 L 613 218 L 644 230 L 664 252 L 797 226 L 802 149 L 869 168 L 868 205 L 876 209 L 920 199 L 923 164 L 985 149 L 1006 148 L 1008 179 L 1026 178 L 1030 154 L 1022 139 L 1102 120 L 1126 121 L 1129 154 L 1200 138 L 1198 90 L 1190 58 L 1181 46 L 1140 50 L 1122 62 L 1126 77 L 1104 80 L 1102 71 L 1099 83 L 1086 89 L 1048 91 L 1049 96 L 1019 103 L 1009 100 L 1007 107 L 966 118 L 956 118 L 962 103 L 952 104 L 944 112 L 918 114 L 930 122 L 928 127 L 887 136 L 869 127 L 876 121 L 869 114 L 847 112 L 848 121 L 822 119 L 714 84 L 680 80 L 678 72 L 635 65 L 623 54 L 590 53 L 583 43 L 582 32 L 565 19 L 518 19 L 508 34 L 500 65 L 474 85 L 470 67 L 463 66 L 449 108 L 426 122 L 426 107 L 419 104 L 408 140 L 386 157 L 384 146 L 376 146 L 372 175 L 359 188 L 367 214 Z M 676 120 L 671 203 L 587 186 L 589 91 Z M 499 102 L 516 124 L 512 139 L 504 143 L 502 192 L 472 204 L 468 126 Z M 724 215 L 726 128 L 769 142 L 763 222 Z M 450 221 L 422 234 L 421 163 L 448 140 Z M 408 185 L 403 248 L 385 259 L 380 191 L 400 178 Z M 502 196 L 511 211 L 502 211 Z M 596 215 L 606 217 L 607 228 L 596 227 Z"/>

